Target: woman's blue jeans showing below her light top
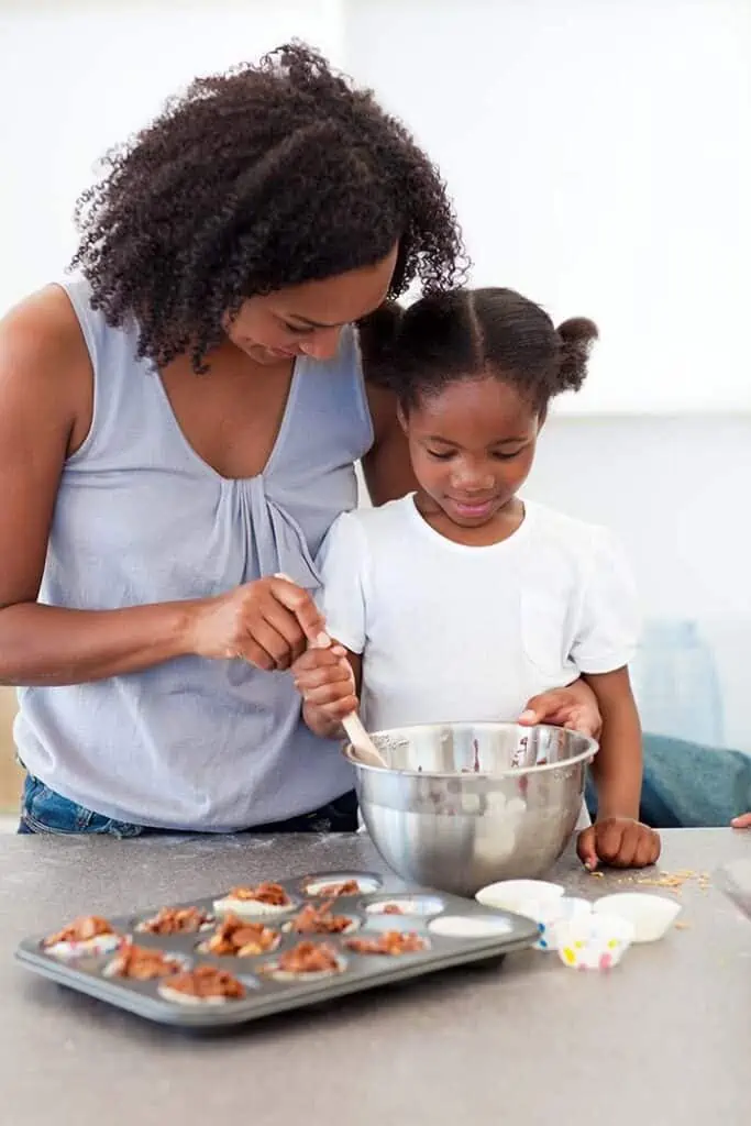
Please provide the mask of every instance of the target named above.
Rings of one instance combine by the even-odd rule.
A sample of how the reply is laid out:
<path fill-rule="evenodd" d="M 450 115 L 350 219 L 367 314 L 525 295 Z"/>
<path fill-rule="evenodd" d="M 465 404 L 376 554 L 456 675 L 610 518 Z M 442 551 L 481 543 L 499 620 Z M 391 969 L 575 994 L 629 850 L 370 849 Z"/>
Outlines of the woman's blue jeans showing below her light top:
<path fill-rule="evenodd" d="M 256 825 L 247 832 L 256 833 L 354 833 L 357 830 L 357 797 L 351 790 L 341 797 L 297 817 Z M 107 837 L 143 837 L 150 833 L 171 832 L 167 829 L 151 829 L 147 825 L 116 821 L 102 813 L 95 813 L 61 794 L 33 775 L 26 776 L 19 833 L 98 833 Z"/>

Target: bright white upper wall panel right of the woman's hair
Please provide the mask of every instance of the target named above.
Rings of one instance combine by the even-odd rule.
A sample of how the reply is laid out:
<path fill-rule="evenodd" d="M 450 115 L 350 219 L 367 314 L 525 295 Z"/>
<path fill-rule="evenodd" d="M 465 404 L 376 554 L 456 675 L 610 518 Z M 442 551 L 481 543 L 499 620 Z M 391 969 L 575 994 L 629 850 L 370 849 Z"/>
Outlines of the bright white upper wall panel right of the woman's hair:
<path fill-rule="evenodd" d="M 751 409 L 749 0 L 351 0 L 481 284 L 598 321 L 564 409 Z"/>

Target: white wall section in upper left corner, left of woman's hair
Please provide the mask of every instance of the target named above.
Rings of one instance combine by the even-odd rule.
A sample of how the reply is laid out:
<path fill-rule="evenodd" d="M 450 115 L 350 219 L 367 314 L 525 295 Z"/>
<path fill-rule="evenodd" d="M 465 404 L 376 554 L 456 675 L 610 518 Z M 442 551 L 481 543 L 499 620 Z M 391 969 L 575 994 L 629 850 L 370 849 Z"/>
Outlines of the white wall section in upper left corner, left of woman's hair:
<path fill-rule="evenodd" d="M 0 0 L 0 311 L 59 277 L 96 161 L 197 74 L 298 37 L 341 62 L 340 0 Z"/>

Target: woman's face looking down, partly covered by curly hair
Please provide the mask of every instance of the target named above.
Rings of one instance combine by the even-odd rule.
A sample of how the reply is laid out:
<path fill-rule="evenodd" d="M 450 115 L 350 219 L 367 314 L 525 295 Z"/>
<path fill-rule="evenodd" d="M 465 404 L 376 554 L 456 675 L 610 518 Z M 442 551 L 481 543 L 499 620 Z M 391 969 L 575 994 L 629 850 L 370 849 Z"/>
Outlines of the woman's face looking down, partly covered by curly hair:
<path fill-rule="evenodd" d="M 397 250 L 396 244 L 375 266 L 250 297 L 232 321 L 227 319 L 229 339 L 258 364 L 278 364 L 294 356 L 330 359 L 342 328 L 386 300 Z"/>

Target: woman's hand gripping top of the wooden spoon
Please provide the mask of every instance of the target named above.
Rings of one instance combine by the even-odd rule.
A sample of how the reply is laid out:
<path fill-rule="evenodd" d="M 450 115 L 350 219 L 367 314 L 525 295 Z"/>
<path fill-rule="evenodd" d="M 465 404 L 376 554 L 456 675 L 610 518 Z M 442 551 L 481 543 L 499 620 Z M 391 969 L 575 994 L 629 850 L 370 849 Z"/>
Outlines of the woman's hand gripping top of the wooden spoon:
<path fill-rule="evenodd" d="M 302 587 L 274 577 L 191 604 L 189 647 L 196 656 L 241 658 L 258 669 L 288 669 L 324 633 L 325 623 Z"/>

